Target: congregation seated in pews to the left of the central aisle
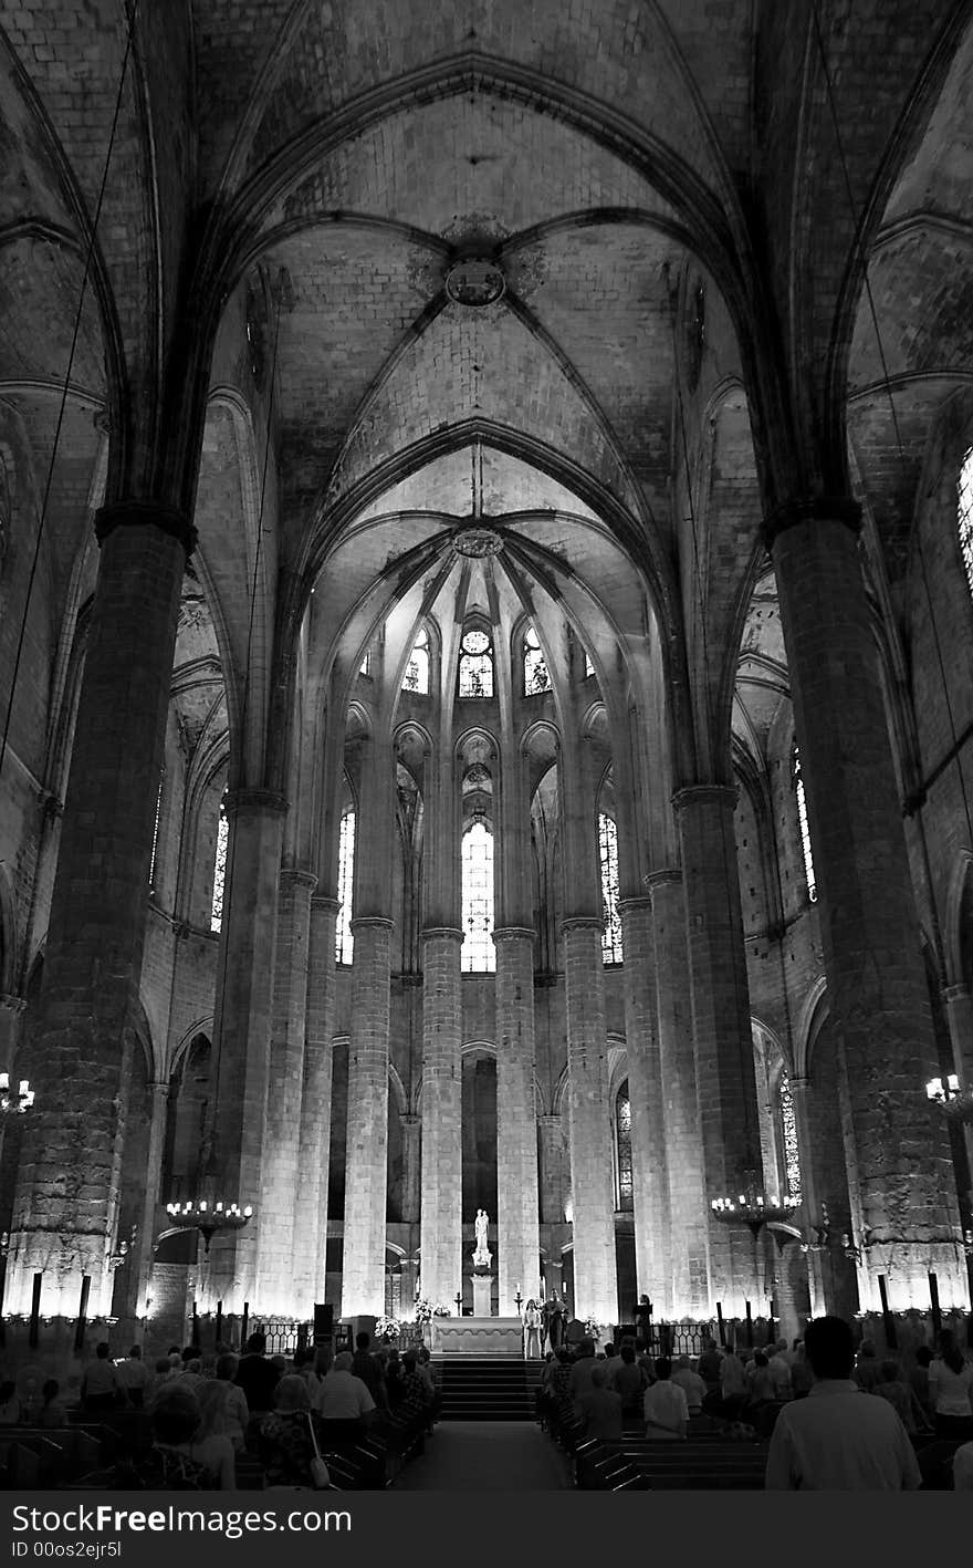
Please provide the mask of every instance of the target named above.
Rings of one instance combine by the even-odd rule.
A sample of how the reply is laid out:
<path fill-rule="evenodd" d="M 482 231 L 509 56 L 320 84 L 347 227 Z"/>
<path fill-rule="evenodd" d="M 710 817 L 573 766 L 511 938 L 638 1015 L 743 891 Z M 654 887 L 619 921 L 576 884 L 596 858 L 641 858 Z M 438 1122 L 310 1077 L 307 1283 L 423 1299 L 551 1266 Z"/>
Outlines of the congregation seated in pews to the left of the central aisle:
<path fill-rule="evenodd" d="M 114 1359 L 99 1344 L 72 1402 L 56 1380 L 41 1391 L 27 1380 L 22 1394 L 16 1378 L 3 1381 L 2 1485 L 378 1488 L 421 1452 L 439 1402 L 425 1347 L 400 1355 L 373 1347 L 367 1333 L 354 1355 L 268 1356 L 265 1336 L 254 1333 L 241 1355 L 172 1347 L 152 1366 L 138 1345 Z M 77 1455 L 103 1463 L 85 1468 Z"/>

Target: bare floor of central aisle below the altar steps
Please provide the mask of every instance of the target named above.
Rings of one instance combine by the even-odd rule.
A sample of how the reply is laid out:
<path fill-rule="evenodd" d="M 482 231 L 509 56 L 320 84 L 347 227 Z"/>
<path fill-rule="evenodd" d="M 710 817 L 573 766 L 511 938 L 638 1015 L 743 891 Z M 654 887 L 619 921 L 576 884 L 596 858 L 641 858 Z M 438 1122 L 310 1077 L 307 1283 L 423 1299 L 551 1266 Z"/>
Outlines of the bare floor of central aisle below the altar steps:
<path fill-rule="evenodd" d="M 570 1461 L 525 1421 L 440 1421 L 395 1491 L 564 1491 Z"/>

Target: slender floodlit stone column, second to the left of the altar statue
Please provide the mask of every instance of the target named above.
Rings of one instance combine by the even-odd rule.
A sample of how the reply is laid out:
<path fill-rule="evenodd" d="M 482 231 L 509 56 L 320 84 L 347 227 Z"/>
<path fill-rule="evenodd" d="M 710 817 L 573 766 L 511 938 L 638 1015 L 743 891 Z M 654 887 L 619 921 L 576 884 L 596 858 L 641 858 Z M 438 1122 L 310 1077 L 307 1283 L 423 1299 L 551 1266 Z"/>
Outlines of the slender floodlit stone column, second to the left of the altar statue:
<path fill-rule="evenodd" d="M 382 916 L 351 922 L 342 1317 L 379 1317 L 385 1311 L 392 930 L 392 920 Z"/>

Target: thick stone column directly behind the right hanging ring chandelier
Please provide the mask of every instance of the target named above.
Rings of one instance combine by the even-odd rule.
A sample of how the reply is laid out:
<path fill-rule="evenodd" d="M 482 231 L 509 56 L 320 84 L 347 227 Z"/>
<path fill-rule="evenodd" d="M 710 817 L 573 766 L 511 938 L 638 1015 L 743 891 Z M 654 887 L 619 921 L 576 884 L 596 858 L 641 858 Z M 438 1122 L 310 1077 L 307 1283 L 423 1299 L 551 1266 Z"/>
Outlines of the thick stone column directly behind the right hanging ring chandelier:
<path fill-rule="evenodd" d="M 733 809 L 736 790 L 721 784 L 680 789 L 678 818 L 693 1040 L 707 1178 L 711 1193 L 740 1192 L 747 1171 L 761 1181 L 754 1030 L 747 986 Z M 711 1221 L 710 1269 L 716 1300 L 743 1314 L 760 1290 L 754 1239 L 746 1226 Z"/>

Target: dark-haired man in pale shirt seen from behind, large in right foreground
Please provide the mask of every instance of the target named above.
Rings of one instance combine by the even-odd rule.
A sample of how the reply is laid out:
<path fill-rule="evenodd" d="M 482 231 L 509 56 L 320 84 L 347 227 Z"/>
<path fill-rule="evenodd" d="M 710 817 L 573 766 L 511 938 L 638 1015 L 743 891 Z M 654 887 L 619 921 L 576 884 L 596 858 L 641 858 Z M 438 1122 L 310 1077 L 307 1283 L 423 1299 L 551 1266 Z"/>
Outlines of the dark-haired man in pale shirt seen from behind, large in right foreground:
<path fill-rule="evenodd" d="M 766 1461 L 768 1491 L 915 1491 L 912 1443 L 887 1399 L 852 1381 L 854 1339 L 840 1317 L 818 1317 L 804 1336 L 815 1375 L 807 1399 L 785 1405 Z"/>

